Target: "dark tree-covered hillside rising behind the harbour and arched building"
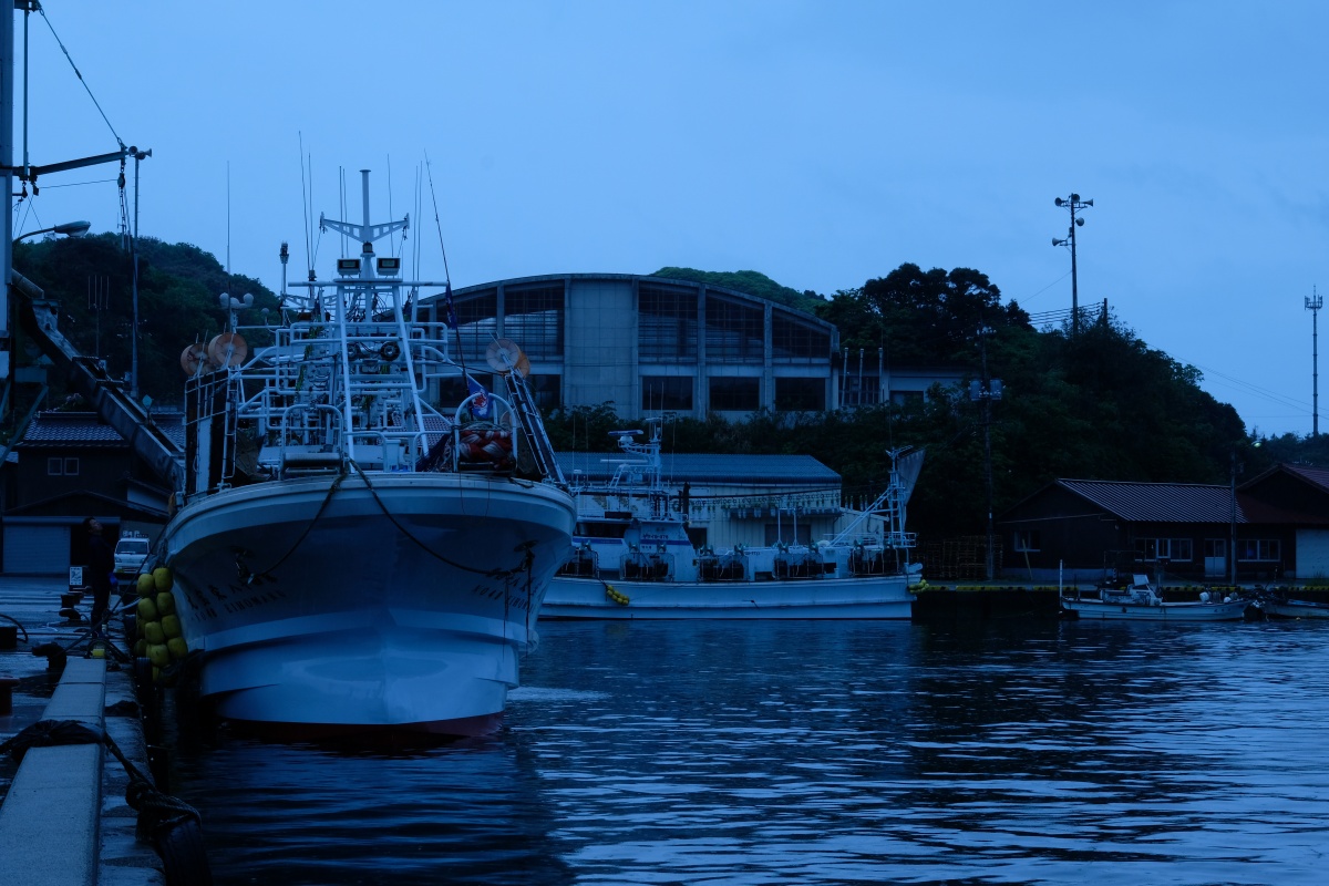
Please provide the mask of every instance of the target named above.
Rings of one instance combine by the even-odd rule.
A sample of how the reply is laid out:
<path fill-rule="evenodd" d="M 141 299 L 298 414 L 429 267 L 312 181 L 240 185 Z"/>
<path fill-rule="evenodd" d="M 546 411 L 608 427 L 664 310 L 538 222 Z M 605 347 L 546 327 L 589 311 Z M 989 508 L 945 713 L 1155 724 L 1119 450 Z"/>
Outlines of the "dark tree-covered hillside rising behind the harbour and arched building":
<path fill-rule="evenodd" d="M 15 268 L 60 302 L 60 328 L 74 347 L 105 359 L 113 376 L 129 372 L 133 268 L 118 238 L 23 242 L 15 247 Z M 828 404 L 825 413 L 763 413 L 740 424 L 678 420 L 666 428 L 664 441 L 675 452 L 812 454 L 865 498 L 885 484 L 888 448 L 925 446 L 910 522 L 933 537 L 982 531 L 985 436 L 997 513 L 1059 477 L 1227 484 L 1233 456 L 1244 470 L 1239 481 L 1276 461 L 1329 458 L 1326 437 L 1249 436 L 1231 405 L 1199 387 L 1197 369 L 1150 348 L 1119 319 L 1086 313 L 1075 336 L 1067 328 L 1034 328 L 1018 304 L 971 268 L 901 264 L 831 299 L 799 294 L 755 271 L 661 268 L 658 275 L 811 310 L 840 328 L 851 355 L 861 348 L 874 361 L 880 352 L 888 368 L 958 368 L 979 380 L 986 361 L 989 377 L 1003 383 L 1002 399 L 986 416 L 962 387 L 936 388 L 926 402 Z M 100 310 L 97 292 L 105 294 Z M 251 292 L 255 312 L 278 307 L 276 295 L 258 280 L 227 275 L 194 246 L 140 240 L 140 387 L 154 401 L 181 402 L 179 355 L 223 329 L 221 292 Z M 16 349 L 19 365 L 41 356 L 23 335 Z M 52 383 L 45 402 L 58 404 L 61 380 Z M 16 392 L 20 402 L 12 404 L 7 432 L 33 396 L 24 385 Z M 585 449 L 603 448 L 605 432 L 625 421 L 611 406 L 591 405 L 556 410 L 548 425 L 556 445 Z"/>

